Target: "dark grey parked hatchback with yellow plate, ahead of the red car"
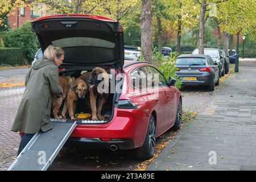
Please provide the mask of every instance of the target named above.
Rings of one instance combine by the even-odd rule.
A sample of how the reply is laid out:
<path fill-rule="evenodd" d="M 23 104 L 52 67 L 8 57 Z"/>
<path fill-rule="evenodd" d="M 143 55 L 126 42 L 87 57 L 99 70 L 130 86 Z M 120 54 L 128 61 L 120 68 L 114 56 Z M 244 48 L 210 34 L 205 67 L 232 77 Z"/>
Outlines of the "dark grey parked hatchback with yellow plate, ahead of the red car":
<path fill-rule="evenodd" d="M 214 85 L 219 84 L 217 63 L 213 63 L 208 55 L 180 55 L 175 67 L 182 85 L 206 85 L 209 90 L 214 90 Z"/>

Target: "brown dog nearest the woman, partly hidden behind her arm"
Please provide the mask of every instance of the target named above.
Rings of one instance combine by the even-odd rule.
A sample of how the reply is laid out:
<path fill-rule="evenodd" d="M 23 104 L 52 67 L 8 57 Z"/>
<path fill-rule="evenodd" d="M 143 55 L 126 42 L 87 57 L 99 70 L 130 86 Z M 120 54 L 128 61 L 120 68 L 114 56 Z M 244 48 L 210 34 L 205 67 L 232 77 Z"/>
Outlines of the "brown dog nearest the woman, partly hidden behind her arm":
<path fill-rule="evenodd" d="M 60 82 L 60 86 L 62 88 L 63 95 L 62 95 L 62 97 L 53 96 L 53 98 L 52 98 L 53 115 L 54 115 L 55 119 L 61 118 L 59 115 L 57 115 L 57 113 L 60 109 L 62 102 L 65 100 L 65 98 L 67 96 L 67 93 L 69 90 L 69 84 L 71 84 L 72 81 L 73 81 L 73 78 L 71 78 L 71 77 L 59 76 L 59 82 Z"/>

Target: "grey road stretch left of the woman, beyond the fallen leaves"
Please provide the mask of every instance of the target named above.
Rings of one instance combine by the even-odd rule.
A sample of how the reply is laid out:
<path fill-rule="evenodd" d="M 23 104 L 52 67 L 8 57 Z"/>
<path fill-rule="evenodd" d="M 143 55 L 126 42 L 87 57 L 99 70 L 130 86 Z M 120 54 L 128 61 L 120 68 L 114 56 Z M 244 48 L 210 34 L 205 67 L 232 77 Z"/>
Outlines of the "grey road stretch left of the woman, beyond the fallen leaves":
<path fill-rule="evenodd" d="M 25 76 L 30 68 L 14 68 L 0 69 L 0 81 L 2 82 L 22 82 L 25 81 Z"/>

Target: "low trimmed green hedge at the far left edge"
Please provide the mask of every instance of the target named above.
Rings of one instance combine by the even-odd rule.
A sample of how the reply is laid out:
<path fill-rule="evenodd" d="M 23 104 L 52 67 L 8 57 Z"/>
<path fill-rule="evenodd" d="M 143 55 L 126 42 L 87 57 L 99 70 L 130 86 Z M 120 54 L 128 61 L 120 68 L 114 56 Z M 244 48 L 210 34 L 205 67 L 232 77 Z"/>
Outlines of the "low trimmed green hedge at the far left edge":
<path fill-rule="evenodd" d="M 27 62 L 24 60 L 21 48 L 0 48 L 0 66 L 25 64 Z"/>

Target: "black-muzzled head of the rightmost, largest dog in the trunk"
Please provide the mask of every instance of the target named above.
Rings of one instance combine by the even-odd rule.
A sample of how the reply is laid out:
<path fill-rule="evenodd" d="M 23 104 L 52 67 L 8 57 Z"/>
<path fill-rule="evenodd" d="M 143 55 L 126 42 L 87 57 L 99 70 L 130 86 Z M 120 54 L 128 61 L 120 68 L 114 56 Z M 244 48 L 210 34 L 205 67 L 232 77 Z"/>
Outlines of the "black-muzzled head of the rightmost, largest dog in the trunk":
<path fill-rule="evenodd" d="M 109 76 L 105 69 L 96 67 L 92 71 L 92 75 L 88 80 L 90 88 L 97 87 L 99 93 L 108 92 Z"/>

